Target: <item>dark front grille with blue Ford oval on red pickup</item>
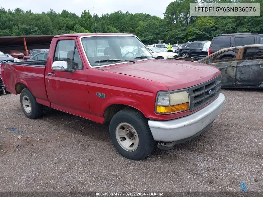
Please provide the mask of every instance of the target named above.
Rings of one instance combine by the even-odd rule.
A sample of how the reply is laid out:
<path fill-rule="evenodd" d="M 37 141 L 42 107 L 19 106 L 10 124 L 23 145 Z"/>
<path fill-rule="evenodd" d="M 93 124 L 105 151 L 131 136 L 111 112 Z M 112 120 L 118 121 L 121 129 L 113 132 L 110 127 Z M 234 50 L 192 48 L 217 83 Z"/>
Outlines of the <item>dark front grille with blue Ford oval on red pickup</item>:
<path fill-rule="evenodd" d="M 193 111 L 217 97 L 221 90 L 221 75 L 207 82 L 188 88 L 190 96 L 190 111 Z M 209 93 L 209 91 L 212 92 Z"/>

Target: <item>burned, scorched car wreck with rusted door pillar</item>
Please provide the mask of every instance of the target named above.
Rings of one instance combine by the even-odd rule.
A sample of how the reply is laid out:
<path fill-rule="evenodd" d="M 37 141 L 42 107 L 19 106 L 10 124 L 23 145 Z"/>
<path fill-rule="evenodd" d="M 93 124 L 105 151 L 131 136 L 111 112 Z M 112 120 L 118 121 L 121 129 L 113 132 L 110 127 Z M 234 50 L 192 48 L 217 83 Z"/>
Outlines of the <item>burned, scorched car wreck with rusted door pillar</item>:
<path fill-rule="evenodd" d="M 218 67 L 222 87 L 263 88 L 263 45 L 221 49 L 196 62 Z"/>

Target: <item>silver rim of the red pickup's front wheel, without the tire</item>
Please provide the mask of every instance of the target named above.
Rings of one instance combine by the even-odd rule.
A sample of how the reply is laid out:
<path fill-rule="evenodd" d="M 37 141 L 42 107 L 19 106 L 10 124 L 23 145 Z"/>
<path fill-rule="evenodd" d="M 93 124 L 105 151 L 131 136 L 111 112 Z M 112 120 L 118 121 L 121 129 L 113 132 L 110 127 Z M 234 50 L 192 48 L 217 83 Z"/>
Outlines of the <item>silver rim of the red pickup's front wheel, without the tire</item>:
<path fill-rule="evenodd" d="M 115 136 L 121 148 L 126 151 L 135 151 L 139 146 L 137 131 L 129 123 L 120 123 L 115 130 Z"/>

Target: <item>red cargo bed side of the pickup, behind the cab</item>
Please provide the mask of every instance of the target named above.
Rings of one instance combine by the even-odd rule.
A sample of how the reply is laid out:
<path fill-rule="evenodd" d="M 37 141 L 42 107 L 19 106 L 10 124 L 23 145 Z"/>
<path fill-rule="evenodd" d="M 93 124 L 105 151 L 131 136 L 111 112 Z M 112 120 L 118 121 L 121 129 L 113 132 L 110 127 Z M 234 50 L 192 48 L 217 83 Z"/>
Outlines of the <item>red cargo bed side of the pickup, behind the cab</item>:
<path fill-rule="evenodd" d="M 25 84 L 38 103 L 49 106 L 45 86 L 46 63 L 47 60 L 2 63 L 1 75 L 6 90 L 19 94 L 21 85 Z"/>

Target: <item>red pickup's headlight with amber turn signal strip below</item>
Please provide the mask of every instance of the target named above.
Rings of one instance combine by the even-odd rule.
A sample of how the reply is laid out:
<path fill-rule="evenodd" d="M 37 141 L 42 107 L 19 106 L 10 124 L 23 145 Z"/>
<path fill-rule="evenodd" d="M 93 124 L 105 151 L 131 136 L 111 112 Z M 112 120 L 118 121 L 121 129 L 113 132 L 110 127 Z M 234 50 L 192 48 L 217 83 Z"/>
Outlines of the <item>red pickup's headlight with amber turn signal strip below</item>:
<path fill-rule="evenodd" d="M 156 112 L 171 114 L 188 110 L 190 108 L 189 106 L 189 95 L 187 91 L 159 94 L 157 98 Z"/>

